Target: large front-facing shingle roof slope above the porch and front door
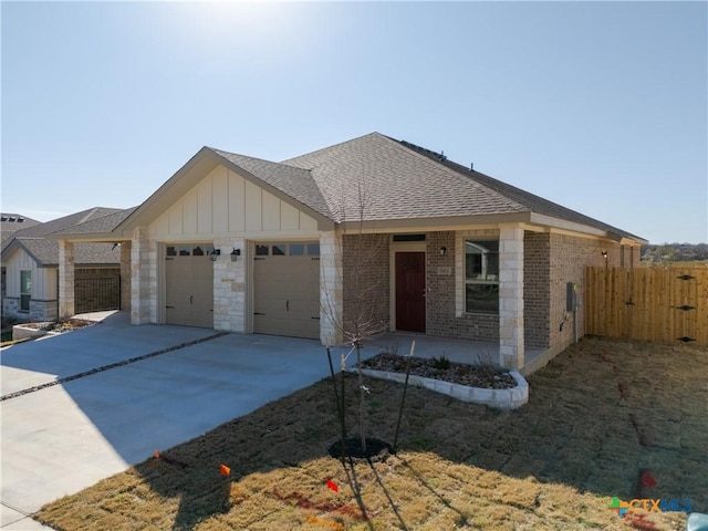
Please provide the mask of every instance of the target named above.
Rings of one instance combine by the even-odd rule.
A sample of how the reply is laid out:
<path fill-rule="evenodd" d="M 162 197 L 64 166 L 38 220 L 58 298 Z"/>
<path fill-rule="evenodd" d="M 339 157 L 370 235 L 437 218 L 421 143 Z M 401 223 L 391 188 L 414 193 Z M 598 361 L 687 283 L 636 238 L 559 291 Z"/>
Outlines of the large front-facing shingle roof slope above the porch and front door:
<path fill-rule="evenodd" d="M 525 210 L 512 198 L 378 133 L 283 164 L 312 173 L 336 221 L 360 220 L 362 204 L 366 221 Z"/>

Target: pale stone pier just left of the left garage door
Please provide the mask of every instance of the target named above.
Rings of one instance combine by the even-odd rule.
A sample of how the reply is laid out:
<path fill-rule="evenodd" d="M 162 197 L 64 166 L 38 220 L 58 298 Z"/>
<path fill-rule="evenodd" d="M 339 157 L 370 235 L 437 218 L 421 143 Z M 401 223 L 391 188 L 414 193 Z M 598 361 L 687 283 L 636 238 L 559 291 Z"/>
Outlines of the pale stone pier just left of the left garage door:
<path fill-rule="evenodd" d="M 157 243 L 137 228 L 131 246 L 131 323 L 157 322 Z"/>

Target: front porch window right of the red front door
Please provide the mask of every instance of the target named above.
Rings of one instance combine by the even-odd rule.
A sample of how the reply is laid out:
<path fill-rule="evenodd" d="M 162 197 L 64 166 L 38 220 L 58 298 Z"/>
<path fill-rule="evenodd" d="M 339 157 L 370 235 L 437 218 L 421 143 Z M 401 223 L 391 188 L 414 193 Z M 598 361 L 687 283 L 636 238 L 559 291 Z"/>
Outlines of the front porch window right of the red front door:
<path fill-rule="evenodd" d="M 499 313 L 499 241 L 465 241 L 465 311 Z"/>

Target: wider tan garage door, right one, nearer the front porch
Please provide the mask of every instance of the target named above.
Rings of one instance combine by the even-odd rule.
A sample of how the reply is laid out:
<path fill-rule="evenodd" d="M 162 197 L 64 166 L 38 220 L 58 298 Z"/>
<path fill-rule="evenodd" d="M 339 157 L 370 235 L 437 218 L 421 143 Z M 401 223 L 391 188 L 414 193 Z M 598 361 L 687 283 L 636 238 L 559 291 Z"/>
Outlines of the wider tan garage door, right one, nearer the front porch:
<path fill-rule="evenodd" d="M 253 331 L 320 337 L 320 243 L 257 243 Z"/>

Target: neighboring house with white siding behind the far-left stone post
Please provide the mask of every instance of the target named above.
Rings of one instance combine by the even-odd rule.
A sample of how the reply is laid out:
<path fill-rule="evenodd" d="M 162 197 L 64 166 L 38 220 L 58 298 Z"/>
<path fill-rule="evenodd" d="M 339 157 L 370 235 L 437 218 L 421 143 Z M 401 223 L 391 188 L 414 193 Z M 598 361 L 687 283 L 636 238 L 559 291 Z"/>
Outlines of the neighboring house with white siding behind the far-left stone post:
<path fill-rule="evenodd" d="M 2 315 L 22 321 L 56 320 L 59 243 L 49 236 L 56 230 L 121 211 L 115 208 L 92 208 L 45 223 L 37 221 L 9 235 L 2 246 Z M 76 246 L 73 289 L 77 312 L 119 306 L 121 251 L 115 247 L 115 243 L 105 242 Z"/>

